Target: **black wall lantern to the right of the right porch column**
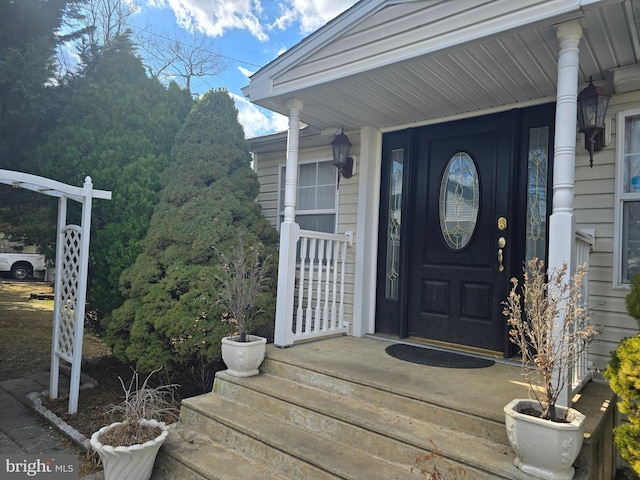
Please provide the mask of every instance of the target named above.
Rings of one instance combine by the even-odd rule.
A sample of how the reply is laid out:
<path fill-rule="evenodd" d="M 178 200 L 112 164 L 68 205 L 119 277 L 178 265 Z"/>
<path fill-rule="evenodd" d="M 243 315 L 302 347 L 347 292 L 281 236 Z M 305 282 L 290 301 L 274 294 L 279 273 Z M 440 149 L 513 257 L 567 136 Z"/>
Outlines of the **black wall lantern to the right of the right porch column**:
<path fill-rule="evenodd" d="M 596 87 L 589 77 L 589 85 L 578 95 L 578 126 L 584 133 L 584 148 L 589 150 L 589 165 L 593 167 L 593 152 L 604 147 L 604 117 L 609 95 Z"/>

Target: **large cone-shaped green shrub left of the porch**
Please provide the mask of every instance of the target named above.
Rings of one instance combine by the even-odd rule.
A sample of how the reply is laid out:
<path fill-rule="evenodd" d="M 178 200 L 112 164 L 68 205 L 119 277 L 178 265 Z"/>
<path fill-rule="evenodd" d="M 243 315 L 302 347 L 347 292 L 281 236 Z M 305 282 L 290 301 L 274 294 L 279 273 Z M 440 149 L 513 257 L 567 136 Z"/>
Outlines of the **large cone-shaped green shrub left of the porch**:
<path fill-rule="evenodd" d="M 207 93 L 176 136 L 143 251 L 121 277 L 127 300 L 104 322 L 120 359 L 142 371 L 220 360 L 220 340 L 230 332 L 212 287 L 222 273 L 219 252 L 242 235 L 276 254 L 277 233 L 255 202 L 250 164 L 233 99 L 224 90 Z M 274 317 L 274 278 L 256 319 L 263 326 Z"/>

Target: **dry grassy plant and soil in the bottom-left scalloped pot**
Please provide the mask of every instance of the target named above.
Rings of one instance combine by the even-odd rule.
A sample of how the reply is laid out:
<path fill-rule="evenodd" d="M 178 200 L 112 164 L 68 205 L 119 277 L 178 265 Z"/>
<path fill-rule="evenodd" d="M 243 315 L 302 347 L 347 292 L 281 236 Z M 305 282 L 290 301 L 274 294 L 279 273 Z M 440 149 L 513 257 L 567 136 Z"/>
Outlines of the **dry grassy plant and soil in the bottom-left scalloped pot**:
<path fill-rule="evenodd" d="M 144 381 L 134 372 L 129 384 L 118 377 L 124 398 L 117 405 L 107 407 L 106 416 L 113 421 L 122 422 L 100 436 L 100 442 L 112 446 L 131 446 L 156 438 L 160 432 L 157 427 L 147 425 L 143 420 L 172 423 L 178 418 L 178 401 L 175 393 L 178 385 L 160 385 L 152 387 L 151 377 L 160 369 L 151 372 Z"/>

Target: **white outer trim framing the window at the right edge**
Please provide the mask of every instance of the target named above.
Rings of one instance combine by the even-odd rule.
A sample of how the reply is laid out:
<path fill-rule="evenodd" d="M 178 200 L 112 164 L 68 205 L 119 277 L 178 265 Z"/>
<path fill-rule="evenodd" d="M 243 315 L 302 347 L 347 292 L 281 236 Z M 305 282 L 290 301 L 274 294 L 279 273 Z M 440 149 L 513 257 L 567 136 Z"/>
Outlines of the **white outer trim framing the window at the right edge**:
<path fill-rule="evenodd" d="M 616 117 L 616 166 L 615 166 L 615 207 L 613 220 L 613 288 L 629 290 L 631 284 L 622 281 L 622 219 L 623 203 L 626 200 L 640 200 L 640 193 L 624 192 L 624 138 L 625 119 L 640 115 L 640 108 L 624 110 Z"/>

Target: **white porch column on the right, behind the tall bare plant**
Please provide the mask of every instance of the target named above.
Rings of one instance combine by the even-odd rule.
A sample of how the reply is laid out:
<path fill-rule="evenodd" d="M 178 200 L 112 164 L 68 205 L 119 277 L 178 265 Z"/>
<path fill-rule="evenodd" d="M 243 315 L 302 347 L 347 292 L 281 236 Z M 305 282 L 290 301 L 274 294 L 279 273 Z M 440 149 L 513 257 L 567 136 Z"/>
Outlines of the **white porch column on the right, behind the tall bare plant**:
<path fill-rule="evenodd" d="M 574 185 L 576 169 L 576 122 L 578 99 L 578 45 L 582 27 L 575 21 L 559 25 L 558 96 L 553 167 L 553 203 L 549 218 L 548 268 L 564 262 L 573 271 L 575 257 Z M 558 405 L 571 406 L 570 386 L 558 397 Z"/>

